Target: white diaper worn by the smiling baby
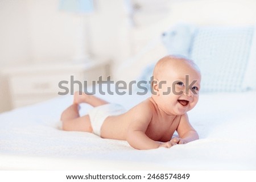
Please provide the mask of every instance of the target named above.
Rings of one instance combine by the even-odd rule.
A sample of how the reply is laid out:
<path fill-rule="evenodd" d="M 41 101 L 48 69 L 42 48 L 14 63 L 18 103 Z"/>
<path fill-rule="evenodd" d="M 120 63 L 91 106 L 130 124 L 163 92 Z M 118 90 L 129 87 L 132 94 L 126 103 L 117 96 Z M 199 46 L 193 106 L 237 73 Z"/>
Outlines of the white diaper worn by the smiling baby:
<path fill-rule="evenodd" d="M 107 117 L 110 115 L 123 114 L 125 112 L 125 108 L 119 104 L 105 104 L 89 110 L 88 114 L 93 128 L 93 133 L 100 136 L 101 126 Z"/>

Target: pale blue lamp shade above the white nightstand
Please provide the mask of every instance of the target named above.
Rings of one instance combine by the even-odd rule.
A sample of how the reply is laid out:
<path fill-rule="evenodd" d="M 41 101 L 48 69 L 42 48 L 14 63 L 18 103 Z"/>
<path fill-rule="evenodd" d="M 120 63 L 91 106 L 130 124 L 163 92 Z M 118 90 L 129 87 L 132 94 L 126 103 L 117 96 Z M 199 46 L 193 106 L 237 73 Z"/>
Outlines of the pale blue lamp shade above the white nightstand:
<path fill-rule="evenodd" d="M 59 9 L 71 13 L 92 13 L 93 0 L 60 0 Z"/>

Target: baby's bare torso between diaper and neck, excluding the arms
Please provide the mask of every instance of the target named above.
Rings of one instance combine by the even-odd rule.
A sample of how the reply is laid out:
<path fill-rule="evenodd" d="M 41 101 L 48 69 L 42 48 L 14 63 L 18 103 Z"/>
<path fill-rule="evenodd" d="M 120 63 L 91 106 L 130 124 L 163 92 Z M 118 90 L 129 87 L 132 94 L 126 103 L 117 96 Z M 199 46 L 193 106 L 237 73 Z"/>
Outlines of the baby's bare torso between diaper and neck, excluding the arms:
<path fill-rule="evenodd" d="M 167 142 L 177 129 L 179 121 L 180 116 L 159 113 L 154 100 L 148 98 L 124 114 L 106 118 L 101 127 L 101 137 L 126 140 L 131 123 L 138 122 L 148 138 Z"/>

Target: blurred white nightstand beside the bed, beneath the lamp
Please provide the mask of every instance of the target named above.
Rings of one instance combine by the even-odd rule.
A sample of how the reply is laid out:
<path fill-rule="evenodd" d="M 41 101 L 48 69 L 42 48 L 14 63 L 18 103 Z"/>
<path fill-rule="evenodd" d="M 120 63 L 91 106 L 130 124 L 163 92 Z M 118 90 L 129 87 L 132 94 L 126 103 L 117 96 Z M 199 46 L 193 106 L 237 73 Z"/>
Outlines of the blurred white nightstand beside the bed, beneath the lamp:
<path fill-rule="evenodd" d="M 110 61 L 22 65 L 22 67 L 3 69 L 3 73 L 9 82 L 11 105 L 14 109 L 56 97 L 58 92 L 64 93 L 67 89 L 70 94 L 71 79 L 80 81 L 82 89 L 84 81 L 90 85 L 100 76 L 106 80 L 110 75 Z M 65 82 L 61 86 L 66 90 L 61 89 L 61 81 Z M 79 90 L 79 84 L 73 85 L 74 90 Z"/>

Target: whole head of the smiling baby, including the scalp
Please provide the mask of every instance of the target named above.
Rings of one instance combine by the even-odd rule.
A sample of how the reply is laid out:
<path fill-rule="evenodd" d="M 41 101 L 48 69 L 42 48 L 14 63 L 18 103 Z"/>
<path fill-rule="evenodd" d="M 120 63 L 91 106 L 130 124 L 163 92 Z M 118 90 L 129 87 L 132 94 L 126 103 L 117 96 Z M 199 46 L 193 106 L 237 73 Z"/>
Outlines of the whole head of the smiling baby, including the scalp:
<path fill-rule="evenodd" d="M 199 100 L 201 74 L 192 60 L 165 56 L 155 65 L 152 98 L 167 114 L 182 115 Z"/>

